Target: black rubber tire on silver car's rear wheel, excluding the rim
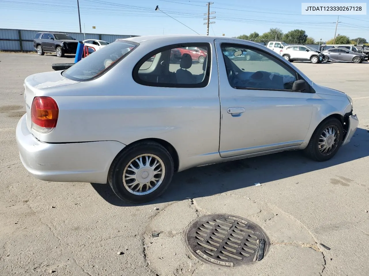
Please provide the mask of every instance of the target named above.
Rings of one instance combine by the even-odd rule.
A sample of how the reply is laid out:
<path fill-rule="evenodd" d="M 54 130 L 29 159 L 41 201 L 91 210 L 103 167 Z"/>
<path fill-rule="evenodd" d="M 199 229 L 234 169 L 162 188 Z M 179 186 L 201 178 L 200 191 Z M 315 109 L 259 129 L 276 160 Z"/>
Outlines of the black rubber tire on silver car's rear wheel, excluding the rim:
<path fill-rule="evenodd" d="M 130 164 L 134 164 L 134 166 L 137 169 L 138 163 L 132 160 L 135 160 L 135 158 L 137 158 L 139 155 L 154 155 L 158 157 L 161 161 L 161 163 L 159 161 L 159 164 L 160 165 L 163 164 L 164 166 L 164 168 L 162 168 L 162 171 L 165 171 L 164 174 L 158 173 L 159 176 L 158 174 L 151 174 L 151 173 L 148 173 L 148 171 L 143 171 L 141 174 L 141 179 L 143 179 L 144 173 L 148 175 L 146 177 L 149 177 L 149 176 L 154 177 L 155 175 L 157 175 L 157 177 L 161 178 L 158 181 L 158 182 L 161 181 L 161 183 L 156 184 L 158 186 L 153 185 L 151 189 L 148 189 L 147 184 L 140 184 L 142 182 L 139 182 L 138 184 L 131 186 L 132 188 L 138 188 L 139 185 L 142 185 L 142 188 L 144 188 L 145 186 L 145 188 L 148 189 L 147 191 L 152 190 L 151 192 L 147 194 L 141 194 L 141 195 L 139 194 L 141 192 L 132 191 L 135 189 L 130 189 L 128 187 L 130 183 L 127 183 L 127 182 L 130 181 L 131 179 L 127 179 L 123 181 L 124 171 L 125 171 L 125 174 L 124 174 L 125 176 L 127 176 L 128 174 L 131 174 L 130 172 L 132 170 L 128 169 L 128 166 Z M 142 162 L 143 166 L 145 166 L 145 168 L 148 168 L 146 166 L 147 163 L 144 164 L 144 162 L 146 161 L 144 160 Z M 152 162 L 154 161 L 152 160 Z M 129 203 L 144 203 L 144 202 L 152 201 L 153 199 L 159 197 L 166 190 L 166 188 L 168 188 L 170 182 L 172 181 L 173 172 L 174 172 L 173 159 L 170 153 L 167 151 L 167 149 L 156 142 L 145 141 L 145 142 L 139 142 L 132 146 L 127 146 L 127 149 L 124 149 L 121 153 L 118 154 L 118 156 L 114 159 L 113 163 L 110 166 L 110 171 L 108 174 L 108 182 L 110 184 L 111 189 L 114 191 L 114 193 L 123 201 L 129 202 Z M 132 176 L 136 176 L 135 178 L 136 180 L 139 178 L 138 174 L 133 174 Z M 151 181 L 149 181 L 148 183 L 151 184 Z M 136 185 L 138 185 L 138 187 Z M 147 191 L 144 191 L 144 192 L 147 192 Z M 136 192 L 136 194 L 134 194 L 133 192 Z"/>

